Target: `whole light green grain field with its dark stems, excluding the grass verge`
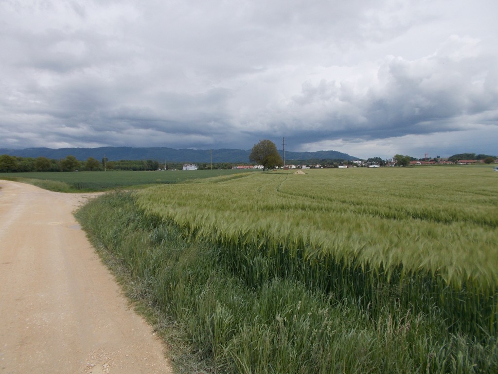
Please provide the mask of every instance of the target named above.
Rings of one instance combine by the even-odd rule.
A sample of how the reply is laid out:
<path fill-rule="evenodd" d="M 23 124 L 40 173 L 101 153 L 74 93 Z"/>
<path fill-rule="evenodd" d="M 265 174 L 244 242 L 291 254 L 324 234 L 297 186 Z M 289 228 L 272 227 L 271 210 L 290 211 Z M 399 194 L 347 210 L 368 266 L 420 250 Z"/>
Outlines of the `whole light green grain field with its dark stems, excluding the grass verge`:
<path fill-rule="evenodd" d="M 417 309 L 438 299 L 454 323 L 494 334 L 496 174 L 477 167 L 258 173 L 151 187 L 138 193 L 138 205 L 221 244 L 253 287 L 297 274 L 368 305 L 388 284 Z M 251 253 L 261 252 L 269 263 L 252 266 Z"/>

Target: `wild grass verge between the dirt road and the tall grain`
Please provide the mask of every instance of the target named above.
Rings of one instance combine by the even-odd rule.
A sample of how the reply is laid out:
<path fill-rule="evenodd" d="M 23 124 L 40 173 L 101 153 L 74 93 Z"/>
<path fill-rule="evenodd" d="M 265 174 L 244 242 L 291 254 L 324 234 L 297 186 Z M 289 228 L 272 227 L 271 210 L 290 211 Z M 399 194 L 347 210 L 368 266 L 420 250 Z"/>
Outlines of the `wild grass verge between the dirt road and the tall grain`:
<path fill-rule="evenodd" d="M 435 309 L 392 299 L 373 318 L 291 278 L 248 287 L 223 248 L 145 215 L 133 193 L 92 200 L 77 218 L 180 373 L 498 372 L 496 337 L 451 334 Z"/>

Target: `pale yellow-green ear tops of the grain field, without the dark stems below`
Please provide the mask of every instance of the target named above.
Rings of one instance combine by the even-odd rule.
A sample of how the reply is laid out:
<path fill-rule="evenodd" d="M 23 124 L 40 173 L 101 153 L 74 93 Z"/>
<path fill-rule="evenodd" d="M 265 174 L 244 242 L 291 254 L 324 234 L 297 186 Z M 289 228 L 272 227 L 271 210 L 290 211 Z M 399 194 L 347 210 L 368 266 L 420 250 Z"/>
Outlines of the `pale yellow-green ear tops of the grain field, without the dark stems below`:
<path fill-rule="evenodd" d="M 498 285 L 498 175 L 487 169 L 313 170 L 139 193 L 150 214 L 226 246 L 333 258 L 387 276 Z"/>

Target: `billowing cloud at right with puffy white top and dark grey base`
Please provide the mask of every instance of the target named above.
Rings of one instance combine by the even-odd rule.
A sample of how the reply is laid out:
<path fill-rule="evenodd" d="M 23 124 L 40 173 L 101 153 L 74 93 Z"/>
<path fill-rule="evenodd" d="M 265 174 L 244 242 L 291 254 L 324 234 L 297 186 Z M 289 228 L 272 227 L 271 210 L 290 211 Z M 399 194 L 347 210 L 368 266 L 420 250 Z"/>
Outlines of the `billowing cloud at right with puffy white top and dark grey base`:
<path fill-rule="evenodd" d="M 378 68 L 376 81 L 358 92 L 350 82 L 305 82 L 292 111 L 309 113 L 305 121 L 315 123 L 309 142 L 327 136 L 370 140 L 464 130 L 473 126 L 473 116 L 477 124 L 496 125 L 497 61 L 472 55 L 469 48 L 476 51 L 476 44 L 451 37 L 445 48 L 419 60 L 390 56 Z"/>

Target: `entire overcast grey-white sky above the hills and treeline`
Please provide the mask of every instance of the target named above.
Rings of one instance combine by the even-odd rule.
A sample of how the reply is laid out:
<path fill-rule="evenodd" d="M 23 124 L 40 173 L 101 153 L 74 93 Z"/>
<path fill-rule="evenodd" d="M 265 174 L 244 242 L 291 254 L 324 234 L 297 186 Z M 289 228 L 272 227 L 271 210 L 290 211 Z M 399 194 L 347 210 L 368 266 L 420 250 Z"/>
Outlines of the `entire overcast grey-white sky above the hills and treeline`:
<path fill-rule="evenodd" d="M 496 0 L 0 0 L 0 148 L 498 155 Z"/>

